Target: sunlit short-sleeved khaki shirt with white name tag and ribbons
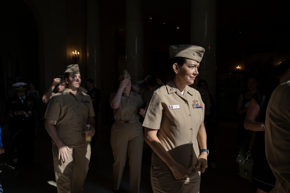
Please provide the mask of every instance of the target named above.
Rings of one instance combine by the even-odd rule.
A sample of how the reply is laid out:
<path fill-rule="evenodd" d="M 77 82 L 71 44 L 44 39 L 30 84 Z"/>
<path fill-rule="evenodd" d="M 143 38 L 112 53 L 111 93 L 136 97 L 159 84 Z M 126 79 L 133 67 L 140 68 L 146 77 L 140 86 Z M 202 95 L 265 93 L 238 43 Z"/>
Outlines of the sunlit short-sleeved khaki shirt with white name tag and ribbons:
<path fill-rule="evenodd" d="M 197 132 L 204 122 L 204 103 L 200 93 L 186 86 L 184 94 L 172 80 L 157 89 L 148 105 L 143 126 L 159 129 L 158 139 L 177 163 L 192 168 L 200 154 Z M 153 153 L 152 161 L 166 164 Z"/>

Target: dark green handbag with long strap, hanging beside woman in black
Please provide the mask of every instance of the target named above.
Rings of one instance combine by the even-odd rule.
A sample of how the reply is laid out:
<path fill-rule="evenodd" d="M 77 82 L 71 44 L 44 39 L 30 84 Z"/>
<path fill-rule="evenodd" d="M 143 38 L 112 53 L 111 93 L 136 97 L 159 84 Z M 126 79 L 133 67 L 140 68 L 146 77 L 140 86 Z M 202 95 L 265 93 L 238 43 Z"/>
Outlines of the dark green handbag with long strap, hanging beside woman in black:
<path fill-rule="evenodd" d="M 265 99 L 266 99 L 266 94 L 263 95 L 261 108 L 260 108 L 257 120 L 260 119 L 260 115 L 261 115 L 261 112 L 265 103 Z M 249 135 L 242 142 L 236 154 L 236 161 L 239 163 L 240 176 L 245 179 L 248 179 L 251 182 L 253 181 L 252 172 L 253 172 L 253 166 L 254 166 L 254 161 L 251 156 L 251 150 L 253 147 L 255 136 L 256 136 L 256 131 L 254 131 L 252 135 Z"/>

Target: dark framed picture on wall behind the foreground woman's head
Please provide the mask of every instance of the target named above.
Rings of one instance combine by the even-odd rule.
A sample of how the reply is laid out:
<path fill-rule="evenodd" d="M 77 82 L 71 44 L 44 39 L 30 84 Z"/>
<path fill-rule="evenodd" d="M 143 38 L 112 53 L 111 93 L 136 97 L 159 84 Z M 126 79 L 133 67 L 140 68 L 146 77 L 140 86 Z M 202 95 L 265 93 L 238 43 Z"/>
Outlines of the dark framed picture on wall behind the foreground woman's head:
<path fill-rule="evenodd" d="M 169 52 L 151 49 L 151 72 L 166 74 L 166 65 L 169 60 Z"/>

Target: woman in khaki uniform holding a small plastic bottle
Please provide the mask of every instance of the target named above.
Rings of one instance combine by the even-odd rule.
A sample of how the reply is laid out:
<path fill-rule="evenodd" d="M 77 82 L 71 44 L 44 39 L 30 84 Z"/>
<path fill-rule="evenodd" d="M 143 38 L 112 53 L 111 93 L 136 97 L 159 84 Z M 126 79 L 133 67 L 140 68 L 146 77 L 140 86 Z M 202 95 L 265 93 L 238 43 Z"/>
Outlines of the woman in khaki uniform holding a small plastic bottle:
<path fill-rule="evenodd" d="M 79 193 L 83 190 L 91 155 L 85 132 L 89 130 L 88 135 L 94 136 L 95 112 L 90 96 L 79 90 L 81 74 L 77 64 L 67 66 L 65 80 L 67 87 L 49 100 L 44 126 L 52 138 L 57 192 Z"/>

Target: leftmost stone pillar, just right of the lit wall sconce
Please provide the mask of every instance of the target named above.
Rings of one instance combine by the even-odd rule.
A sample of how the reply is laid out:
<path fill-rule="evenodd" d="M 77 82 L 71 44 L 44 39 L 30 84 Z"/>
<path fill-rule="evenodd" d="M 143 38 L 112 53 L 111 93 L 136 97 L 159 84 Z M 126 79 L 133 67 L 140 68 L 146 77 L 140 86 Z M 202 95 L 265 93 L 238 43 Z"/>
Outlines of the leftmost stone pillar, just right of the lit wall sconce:
<path fill-rule="evenodd" d="M 87 74 L 102 90 L 100 2 L 87 0 Z M 83 80 L 85 81 L 85 80 Z"/>

